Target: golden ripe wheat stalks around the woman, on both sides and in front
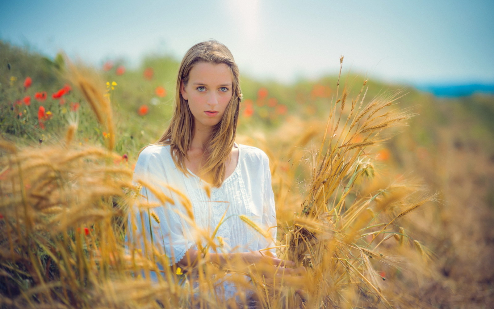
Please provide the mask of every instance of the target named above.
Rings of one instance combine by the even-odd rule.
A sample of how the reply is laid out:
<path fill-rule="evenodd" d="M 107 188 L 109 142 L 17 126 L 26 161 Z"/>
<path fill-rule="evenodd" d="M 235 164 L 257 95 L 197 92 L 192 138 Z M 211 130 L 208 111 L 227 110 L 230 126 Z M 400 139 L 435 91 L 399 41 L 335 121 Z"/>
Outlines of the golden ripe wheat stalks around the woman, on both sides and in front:
<path fill-rule="evenodd" d="M 371 152 L 389 137 L 388 130 L 411 117 L 393 106 L 397 93 L 369 101 L 366 82 L 355 98 L 348 97 L 345 87 L 336 93 L 325 125 L 284 132 L 289 148 L 276 143 L 263 147 L 271 156 L 278 188 L 279 257 L 307 269 L 272 286 L 264 279 L 263 265 L 245 267 L 232 261 L 219 269 L 200 257 L 196 269 L 184 273 L 176 266 L 161 266 L 166 257 L 158 243 L 144 239 L 144 252 L 131 244 L 125 250 L 128 206 L 136 205 L 154 218 L 152 211 L 160 205 L 138 201 L 132 171 L 111 152 L 115 131 L 110 102 L 99 84 L 76 67 L 70 70 L 70 80 L 110 137 L 106 149 L 76 147 L 71 143 L 77 128 L 73 124 L 59 145 L 18 149 L 0 143 L 0 276 L 2 292 L 10 295 L 0 299 L 2 306 L 234 308 L 236 299 L 225 300 L 217 293 L 217 282 L 229 273 L 244 308 L 250 293 L 258 308 L 409 307 L 406 287 L 386 285 L 384 273 L 403 265 L 426 265 L 427 249 L 408 236 L 399 221 L 432 197 L 419 185 L 374 179 L 378 171 Z M 322 140 L 320 146 L 306 149 L 315 138 Z M 277 168 L 287 162 L 297 169 Z M 300 175 L 307 180 L 301 181 Z M 153 184 L 141 185 L 155 190 Z M 156 195 L 163 203 L 169 199 Z M 182 204 L 190 208 L 185 196 Z M 192 225 L 193 218 L 188 213 Z M 259 237 L 266 234 L 252 227 Z M 198 235 L 199 248 L 221 251 L 214 234 Z M 161 274 L 156 282 L 149 279 L 151 271 Z"/>

